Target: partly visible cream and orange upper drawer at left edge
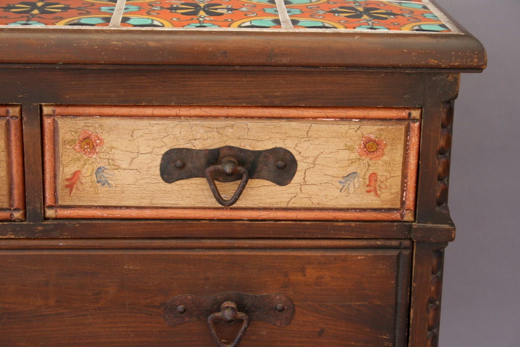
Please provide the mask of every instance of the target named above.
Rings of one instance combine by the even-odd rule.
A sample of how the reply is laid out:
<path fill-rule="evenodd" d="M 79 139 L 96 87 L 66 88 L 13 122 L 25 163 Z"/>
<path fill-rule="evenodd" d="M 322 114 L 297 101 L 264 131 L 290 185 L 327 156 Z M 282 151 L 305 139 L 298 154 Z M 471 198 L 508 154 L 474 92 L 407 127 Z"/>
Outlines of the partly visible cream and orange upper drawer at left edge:
<path fill-rule="evenodd" d="M 0 105 L 0 220 L 25 219 L 20 106 Z"/>

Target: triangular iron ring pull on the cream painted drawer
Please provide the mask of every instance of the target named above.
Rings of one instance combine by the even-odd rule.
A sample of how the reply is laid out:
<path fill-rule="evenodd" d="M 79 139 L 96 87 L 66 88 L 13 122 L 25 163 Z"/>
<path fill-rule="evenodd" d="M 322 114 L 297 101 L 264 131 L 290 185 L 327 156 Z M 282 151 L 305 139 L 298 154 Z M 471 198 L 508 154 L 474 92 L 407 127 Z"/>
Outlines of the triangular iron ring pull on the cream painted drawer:
<path fill-rule="evenodd" d="M 222 197 L 220 192 L 218 191 L 218 188 L 215 184 L 215 179 L 213 178 L 213 171 L 220 170 L 224 174 L 228 176 L 241 174 L 242 179 L 240 180 L 240 184 L 237 187 L 237 190 L 235 191 L 235 194 L 229 199 L 226 200 Z M 242 191 L 244 191 L 245 185 L 248 184 L 249 181 L 249 173 L 248 170 L 244 169 L 242 166 L 238 165 L 238 160 L 234 157 L 226 157 L 222 159 L 220 164 L 217 165 L 211 165 L 209 168 L 206 169 L 206 181 L 210 185 L 211 192 L 213 193 L 213 196 L 215 197 L 215 200 L 223 206 L 231 206 L 235 202 L 238 201 L 240 198 L 240 195 L 242 195 Z"/>

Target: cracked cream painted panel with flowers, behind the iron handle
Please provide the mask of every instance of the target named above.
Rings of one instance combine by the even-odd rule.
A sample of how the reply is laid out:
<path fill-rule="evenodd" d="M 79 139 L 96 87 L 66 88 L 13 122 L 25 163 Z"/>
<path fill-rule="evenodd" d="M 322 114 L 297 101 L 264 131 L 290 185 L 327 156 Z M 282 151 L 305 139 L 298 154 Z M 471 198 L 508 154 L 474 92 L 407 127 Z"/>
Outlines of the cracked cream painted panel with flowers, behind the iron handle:
<path fill-rule="evenodd" d="M 404 119 L 56 117 L 56 120 L 56 189 L 61 206 L 220 207 L 204 178 L 167 184 L 160 177 L 159 164 L 163 153 L 171 148 L 210 149 L 228 145 L 252 150 L 284 147 L 298 162 L 289 185 L 280 187 L 252 179 L 231 209 L 401 206 L 409 124 Z M 78 136 L 85 130 L 103 139 L 96 157 L 87 158 L 74 150 Z M 384 139 L 385 154 L 380 160 L 359 155 L 359 143 L 367 134 Z M 77 170 L 84 173 L 83 184 L 70 194 L 66 179 Z M 105 185 L 98 182 L 101 172 Z M 343 189 L 340 181 L 352 172 L 357 173 L 358 182 Z M 229 197 L 238 182 L 217 185 L 222 195 Z"/>

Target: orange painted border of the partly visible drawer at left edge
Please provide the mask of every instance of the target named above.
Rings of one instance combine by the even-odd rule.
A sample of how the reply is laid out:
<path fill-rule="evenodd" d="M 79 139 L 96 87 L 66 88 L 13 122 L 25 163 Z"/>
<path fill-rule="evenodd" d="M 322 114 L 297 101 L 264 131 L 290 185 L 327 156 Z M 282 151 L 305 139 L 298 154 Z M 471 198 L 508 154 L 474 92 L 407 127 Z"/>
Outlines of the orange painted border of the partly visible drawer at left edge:
<path fill-rule="evenodd" d="M 0 118 L 7 119 L 6 156 L 8 164 L 9 208 L 0 209 L 1 221 L 25 220 L 25 179 L 21 106 L 0 105 Z"/>

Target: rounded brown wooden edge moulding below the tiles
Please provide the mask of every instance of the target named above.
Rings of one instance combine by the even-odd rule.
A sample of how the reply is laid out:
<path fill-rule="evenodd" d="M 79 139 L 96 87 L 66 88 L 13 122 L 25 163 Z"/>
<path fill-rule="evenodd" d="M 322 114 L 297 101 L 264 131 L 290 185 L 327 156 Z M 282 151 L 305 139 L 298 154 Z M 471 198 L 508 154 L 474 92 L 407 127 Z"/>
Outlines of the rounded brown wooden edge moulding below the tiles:
<path fill-rule="evenodd" d="M 21 30 L 20 30 L 21 29 Z M 0 28 L 5 63 L 483 69 L 469 34 Z M 389 45 L 388 42 L 392 42 Z M 116 44 L 114 44 L 116 43 Z M 313 49 L 309 49 L 312 43 Z M 47 54 L 42 55 L 45 47 Z M 95 47 L 93 49 L 93 47 Z M 380 47 L 385 48 L 381 54 Z M 23 55 L 20 54 L 23 52 Z"/>

